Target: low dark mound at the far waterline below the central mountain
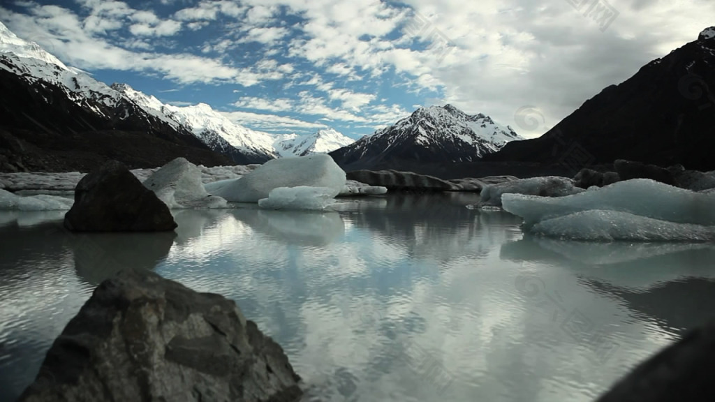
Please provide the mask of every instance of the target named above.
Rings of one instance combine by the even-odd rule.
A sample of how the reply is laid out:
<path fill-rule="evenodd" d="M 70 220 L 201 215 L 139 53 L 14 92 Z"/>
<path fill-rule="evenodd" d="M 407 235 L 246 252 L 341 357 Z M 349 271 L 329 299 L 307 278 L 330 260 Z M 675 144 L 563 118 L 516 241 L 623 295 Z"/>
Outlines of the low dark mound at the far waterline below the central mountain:
<path fill-rule="evenodd" d="M 353 170 L 347 172 L 347 180 L 356 180 L 371 186 L 386 187 L 388 190 L 408 191 L 455 191 L 458 186 L 437 177 L 418 175 L 413 172 L 396 170 Z"/>

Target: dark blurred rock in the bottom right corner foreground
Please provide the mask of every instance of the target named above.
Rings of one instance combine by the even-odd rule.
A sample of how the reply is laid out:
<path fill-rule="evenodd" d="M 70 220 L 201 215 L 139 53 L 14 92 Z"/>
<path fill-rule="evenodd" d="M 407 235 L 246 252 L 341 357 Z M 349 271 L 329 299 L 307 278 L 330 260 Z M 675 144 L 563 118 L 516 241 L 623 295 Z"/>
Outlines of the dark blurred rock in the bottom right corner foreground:
<path fill-rule="evenodd" d="M 715 322 L 636 366 L 597 402 L 715 401 Z"/>

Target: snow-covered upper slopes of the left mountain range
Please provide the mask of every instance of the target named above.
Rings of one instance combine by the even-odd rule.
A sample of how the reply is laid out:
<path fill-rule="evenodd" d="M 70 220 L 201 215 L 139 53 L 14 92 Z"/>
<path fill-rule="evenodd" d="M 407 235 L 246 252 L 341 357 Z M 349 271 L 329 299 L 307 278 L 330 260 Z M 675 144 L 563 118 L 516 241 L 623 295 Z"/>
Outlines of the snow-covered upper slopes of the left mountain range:
<path fill-rule="evenodd" d="M 99 82 L 79 69 L 67 67 L 38 44 L 20 39 L 1 23 L 0 70 L 14 74 L 14 79 L 21 79 L 26 85 L 43 89 L 49 85 L 53 90 L 61 92 L 85 112 L 96 114 L 91 118 L 83 118 L 87 124 L 87 120 L 104 121 L 79 124 L 81 127 L 75 129 L 111 128 L 149 134 L 161 132 L 164 137 L 173 132 L 179 137 L 194 137 L 187 141 L 227 155 L 237 164 L 262 163 L 277 157 L 273 148 L 275 137 L 271 134 L 235 124 L 207 104 L 174 107 L 162 104 L 157 98 L 136 91 L 127 84 L 109 86 Z M 56 95 L 41 96 L 47 102 L 56 98 Z M 30 120 L 46 125 L 37 118 Z M 62 128 L 59 121 L 57 124 L 47 124 Z M 147 124 L 150 127 L 146 127 Z"/>

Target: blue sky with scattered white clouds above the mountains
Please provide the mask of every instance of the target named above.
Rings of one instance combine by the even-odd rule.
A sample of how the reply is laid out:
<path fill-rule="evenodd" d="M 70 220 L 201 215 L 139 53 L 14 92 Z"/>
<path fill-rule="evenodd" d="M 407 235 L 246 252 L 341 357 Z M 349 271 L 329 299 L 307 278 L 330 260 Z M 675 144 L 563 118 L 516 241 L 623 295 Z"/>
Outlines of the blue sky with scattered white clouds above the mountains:
<path fill-rule="evenodd" d="M 273 134 L 359 138 L 453 104 L 523 137 L 713 26 L 712 0 L 3 0 L 99 81 Z"/>

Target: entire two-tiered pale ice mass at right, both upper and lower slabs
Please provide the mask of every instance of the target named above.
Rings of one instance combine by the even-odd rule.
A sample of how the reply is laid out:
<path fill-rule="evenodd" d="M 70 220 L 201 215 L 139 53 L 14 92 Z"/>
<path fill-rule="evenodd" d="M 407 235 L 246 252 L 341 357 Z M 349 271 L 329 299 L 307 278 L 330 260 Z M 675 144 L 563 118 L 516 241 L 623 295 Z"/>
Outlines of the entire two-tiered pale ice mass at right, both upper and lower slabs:
<path fill-rule="evenodd" d="M 715 195 L 650 179 L 616 182 L 566 197 L 504 194 L 524 230 L 573 240 L 715 240 Z"/>

